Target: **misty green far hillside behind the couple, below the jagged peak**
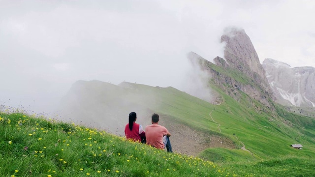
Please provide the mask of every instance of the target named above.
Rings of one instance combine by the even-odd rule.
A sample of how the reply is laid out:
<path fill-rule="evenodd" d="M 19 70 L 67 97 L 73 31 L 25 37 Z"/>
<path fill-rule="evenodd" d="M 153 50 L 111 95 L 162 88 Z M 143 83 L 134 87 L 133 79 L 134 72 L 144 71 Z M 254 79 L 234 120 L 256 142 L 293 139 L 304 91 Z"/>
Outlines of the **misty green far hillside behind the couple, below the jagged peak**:
<path fill-rule="evenodd" d="M 210 148 L 200 154 L 200 157 L 206 156 L 205 154 L 215 154 L 214 156 L 207 156 L 207 159 L 211 161 L 219 163 L 222 159 L 234 162 L 256 161 L 274 157 L 282 158 L 288 155 L 306 158 L 315 157 L 315 126 L 313 119 L 288 113 L 281 106 L 277 106 L 277 112 L 272 112 L 267 110 L 260 102 L 251 99 L 242 92 L 240 100 L 236 101 L 222 92 L 221 89 L 213 87 L 222 96 L 221 104 L 213 105 L 171 87 L 159 88 L 125 83 L 126 86 L 123 88 L 115 86 L 116 89 L 112 89 L 115 91 L 100 92 L 98 89 L 101 90 L 102 87 L 94 89 L 92 87 L 94 86 L 93 82 L 86 82 L 85 85 L 89 85 L 89 87 L 84 89 L 84 99 L 77 99 L 79 101 L 73 104 L 66 103 L 75 105 L 94 102 L 94 106 L 100 105 L 92 109 L 92 111 L 95 111 L 94 114 L 90 116 L 85 114 L 85 118 L 97 118 L 94 115 L 103 107 L 111 108 L 112 106 L 113 110 L 121 112 L 120 109 L 124 109 L 123 107 L 126 105 L 137 105 L 152 110 L 152 113 L 168 115 L 174 124 L 181 123 L 193 130 L 202 131 L 209 135 L 227 137 L 235 143 L 236 149 L 221 148 L 221 150 L 218 150 Z M 92 98 L 89 97 L 89 92 L 93 93 Z M 80 95 L 79 93 L 76 93 L 76 95 Z M 124 102 L 112 104 L 106 101 L 108 95 L 110 95 L 109 98 L 119 97 Z M 143 99 L 139 101 L 139 98 Z M 123 106 L 118 107 L 119 104 Z M 82 107 L 78 106 L 75 109 L 76 118 L 80 117 L 80 111 L 84 110 L 84 107 L 80 108 Z M 102 114 L 99 113 L 99 115 Z M 101 119 L 100 122 L 103 122 L 103 117 L 99 118 Z M 119 120 L 119 123 L 123 126 L 126 123 L 125 119 L 116 119 L 116 121 Z M 148 116 L 147 119 L 150 119 L 150 117 Z M 140 123 L 143 122 L 140 121 Z M 122 129 L 119 131 L 122 131 Z M 233 136 L 233 133 L 236 136 Z M 223 141 L 222 144 L 224 143 Z M 301 144 L 304 148 L 303 150 L 296 150 L 290 148 L 291 144 Z M 242 150 L 242 147 L 248 151 Z M 220 146 L 217 148 L 220 148 Z"/>

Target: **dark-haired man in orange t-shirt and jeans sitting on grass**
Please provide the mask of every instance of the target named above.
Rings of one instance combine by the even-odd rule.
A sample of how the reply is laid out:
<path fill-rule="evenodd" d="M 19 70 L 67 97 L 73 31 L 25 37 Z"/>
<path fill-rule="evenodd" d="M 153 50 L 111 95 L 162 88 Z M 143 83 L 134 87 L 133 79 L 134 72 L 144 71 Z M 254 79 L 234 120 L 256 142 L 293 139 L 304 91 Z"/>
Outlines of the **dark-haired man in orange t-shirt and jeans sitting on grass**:
<path fill-rule="evenodd" d="M 173 152 L 169 140 L 171 134 L 165 127 L 158 125 L 158 121 L 159 116 L 154 113 L 152 115 L 152 125 L 146 126 L 147 144 L 159 149 L 164 149 L 166 147 L 168 152 Z"/>

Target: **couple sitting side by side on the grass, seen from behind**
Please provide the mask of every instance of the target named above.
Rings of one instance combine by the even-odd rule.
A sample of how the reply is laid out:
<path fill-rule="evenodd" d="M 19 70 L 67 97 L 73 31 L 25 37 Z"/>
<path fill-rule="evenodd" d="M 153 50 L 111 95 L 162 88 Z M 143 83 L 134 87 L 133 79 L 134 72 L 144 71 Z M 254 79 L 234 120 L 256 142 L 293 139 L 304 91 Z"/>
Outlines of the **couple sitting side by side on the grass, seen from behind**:
<path fill-rule="evenodd" d="M 129 123 L 125 127 L 125 135 L 127 139 L 132 139 L 135 142 L 141 142 L 141 138 L 146 138 L 146 143 L 155 148 L 164 149 L 166 147 L 168 152 L 172 151 L 171 142 L 169 137 L 171 134 L 167 129 L 158 125 L 158 114 L 152 115 L 152 125 L 146 126 L 146 132 L 143 127 L 136 123 L 137 115 L 135 112 L 129 114 Z"/>

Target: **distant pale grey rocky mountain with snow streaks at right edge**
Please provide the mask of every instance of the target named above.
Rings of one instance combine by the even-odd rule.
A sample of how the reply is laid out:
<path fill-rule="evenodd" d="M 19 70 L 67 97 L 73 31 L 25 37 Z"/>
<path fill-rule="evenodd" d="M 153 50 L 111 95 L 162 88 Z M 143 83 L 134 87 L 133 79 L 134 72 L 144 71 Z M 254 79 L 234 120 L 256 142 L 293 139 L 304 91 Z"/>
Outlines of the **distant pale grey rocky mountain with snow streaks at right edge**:
<path fill-rule="evenodd" d="M 314 67 L 291 68 L 284 62 L 265 59 L 263 68 L 279 103 L 315 107 Z"/>

